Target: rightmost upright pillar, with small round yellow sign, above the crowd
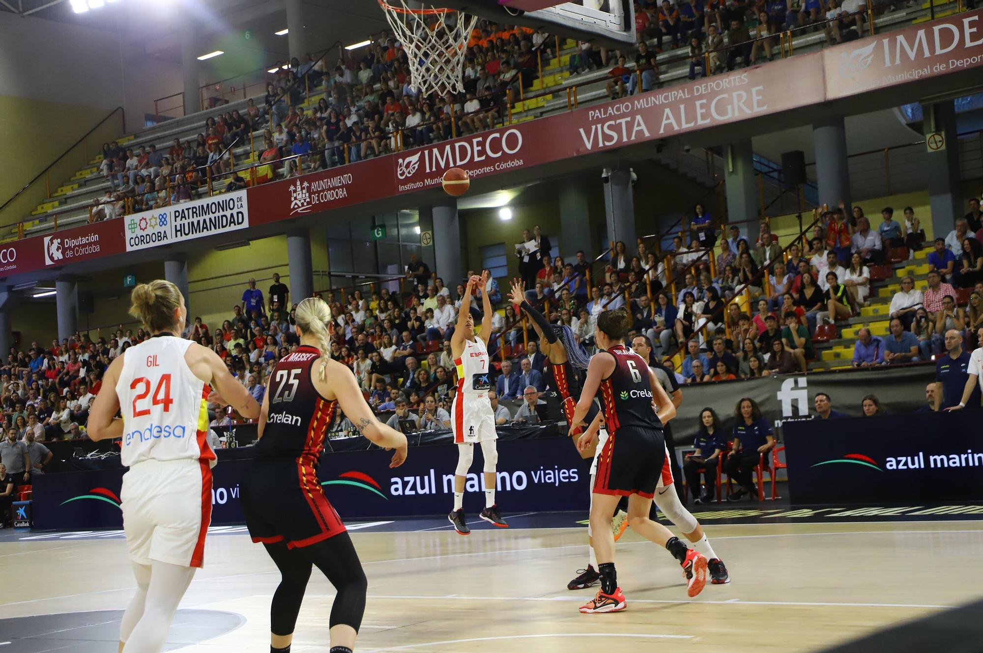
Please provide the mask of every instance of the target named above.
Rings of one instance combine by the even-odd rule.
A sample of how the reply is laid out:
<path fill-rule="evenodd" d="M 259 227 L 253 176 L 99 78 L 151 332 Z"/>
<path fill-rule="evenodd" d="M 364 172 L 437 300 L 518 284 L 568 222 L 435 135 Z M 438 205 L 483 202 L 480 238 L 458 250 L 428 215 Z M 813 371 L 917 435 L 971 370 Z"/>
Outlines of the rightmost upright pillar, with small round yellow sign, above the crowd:
<path fill-rule="evenodd" d="M 928 177 L 928 201 L 932 209 L 932 234 L 934 238 L 946 238 L 955 228 L 956 218 L 963 215 L 954 100 L 928 104 L 923 110 L 925 134 L 941 132 L 945 137 L 945 149 L 928 150 L 925 175 Z"/>

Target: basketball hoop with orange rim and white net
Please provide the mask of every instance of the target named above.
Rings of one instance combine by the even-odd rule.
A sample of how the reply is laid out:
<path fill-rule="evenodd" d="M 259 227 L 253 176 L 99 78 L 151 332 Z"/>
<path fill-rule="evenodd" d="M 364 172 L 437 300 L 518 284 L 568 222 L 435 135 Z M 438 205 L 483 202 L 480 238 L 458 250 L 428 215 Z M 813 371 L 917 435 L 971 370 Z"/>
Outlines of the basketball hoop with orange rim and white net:
<path fill-rule="evenodd" d="M 410 87 L 422 95 L 463 92 L 464 54 L 478 17 L 432 5 L 411 9 L 406 3 L 378 0 L 410 60 Z"/>

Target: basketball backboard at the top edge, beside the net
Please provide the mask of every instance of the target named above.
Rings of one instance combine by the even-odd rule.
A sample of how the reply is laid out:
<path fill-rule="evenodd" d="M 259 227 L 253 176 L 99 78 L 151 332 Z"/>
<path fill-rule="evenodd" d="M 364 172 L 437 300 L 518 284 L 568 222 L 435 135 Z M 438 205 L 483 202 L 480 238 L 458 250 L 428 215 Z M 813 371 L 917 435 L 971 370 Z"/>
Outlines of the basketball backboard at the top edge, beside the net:
<path fill-rule="evenodd" d="M 635 42 L 635 6 L 632 0 L 433 0 L 498 23 L 543 27 L 549 33 L 618 47 Z M 549 6 L 554 5 L 554 6 Z M 543 7 L 526 12 L 520 7 Z"/>

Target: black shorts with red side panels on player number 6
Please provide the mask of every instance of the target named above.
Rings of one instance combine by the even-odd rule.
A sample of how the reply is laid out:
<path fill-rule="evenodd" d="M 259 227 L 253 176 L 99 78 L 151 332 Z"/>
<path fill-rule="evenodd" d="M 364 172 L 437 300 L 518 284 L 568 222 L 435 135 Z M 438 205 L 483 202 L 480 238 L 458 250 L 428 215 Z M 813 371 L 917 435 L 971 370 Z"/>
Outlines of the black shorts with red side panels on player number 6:
<path fill-rule="evenodd" d="M 661 429 L 622 426 L 607 436 L 598 459 L 594 491 L 622 497 L 638 494 L 651 499 L 665 484 L 667 466 Z M 671 484 L 671 471 L 667 477 Z"/>

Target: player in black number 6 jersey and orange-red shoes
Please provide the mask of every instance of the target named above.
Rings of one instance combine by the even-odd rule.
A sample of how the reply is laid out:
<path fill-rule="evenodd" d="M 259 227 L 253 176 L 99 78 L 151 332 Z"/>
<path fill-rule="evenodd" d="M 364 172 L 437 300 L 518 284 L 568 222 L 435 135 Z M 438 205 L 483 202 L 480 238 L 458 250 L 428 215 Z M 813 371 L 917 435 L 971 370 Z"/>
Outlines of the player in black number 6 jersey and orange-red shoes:
<path fill-rule="evenodd" d="M 652 418 L 653 388 L 658 380 L 648 362 L 624 346 L 627 332 L 627 315 L 623 311 L 606 310 L 598 315 L 594 340 L 604 351 L 591 359 L 573 415 L 573 423 L 582 424 L 595 396 L 600 395 L 608 432 L 591 497 L 591 531 L 601 590 L 581 606 L 582 613 L 618 612 L 625 608 L 626 600 L 614 570 L 614 537 L 610 530 L 611 515 L 622 496 L 628 497 L 628 523 L 632 529 L 664 546 L 679 561 L 689 596 L 703 591 L 707 582 L 707 559 L 689 549 L 663 524 L 649 518 L 652 499 L 665 485 L 662 424 L 675 416 L 675 407 L 671 402 L 662 403 L 659 419 Z M 595 447 L 597 432 L 585 432 L 577 444 L 581 450 Z"/>

